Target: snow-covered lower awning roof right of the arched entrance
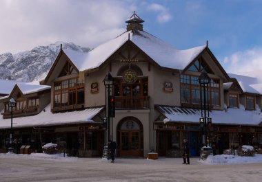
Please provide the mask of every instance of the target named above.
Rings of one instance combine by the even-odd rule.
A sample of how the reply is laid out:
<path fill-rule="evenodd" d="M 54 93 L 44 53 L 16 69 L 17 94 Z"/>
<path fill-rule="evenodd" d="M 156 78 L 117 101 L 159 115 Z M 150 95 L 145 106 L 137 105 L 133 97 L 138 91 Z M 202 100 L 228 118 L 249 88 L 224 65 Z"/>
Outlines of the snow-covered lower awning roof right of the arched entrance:
<path fill-rule="evenodd" d="M 199 117 L 201 117 L 201 110 L 199 109 L 183 109 L 176 106 L 158 106 L 157 108 L 166 117 L 163 120 L 164 123 L 199 123 Z M 227 111 L 212 110 L 210 117 L 213 124 L 259 125 L 262 122 L 262 113 L 259 109 L 246 111 L 243 105 L 240 105 L 239 109 L 229 108 Z"/>

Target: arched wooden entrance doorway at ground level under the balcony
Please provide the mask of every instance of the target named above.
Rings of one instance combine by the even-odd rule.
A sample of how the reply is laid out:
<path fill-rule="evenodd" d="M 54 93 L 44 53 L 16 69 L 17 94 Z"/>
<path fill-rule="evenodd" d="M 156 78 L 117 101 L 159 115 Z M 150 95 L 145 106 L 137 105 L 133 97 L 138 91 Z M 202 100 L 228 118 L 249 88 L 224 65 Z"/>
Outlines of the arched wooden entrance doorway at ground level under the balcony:
<path fill-rule="evenodd" d="M 143 125 L 136 117 L 125 117 L 117 126 L 119 157 L 143 157 Z"/>

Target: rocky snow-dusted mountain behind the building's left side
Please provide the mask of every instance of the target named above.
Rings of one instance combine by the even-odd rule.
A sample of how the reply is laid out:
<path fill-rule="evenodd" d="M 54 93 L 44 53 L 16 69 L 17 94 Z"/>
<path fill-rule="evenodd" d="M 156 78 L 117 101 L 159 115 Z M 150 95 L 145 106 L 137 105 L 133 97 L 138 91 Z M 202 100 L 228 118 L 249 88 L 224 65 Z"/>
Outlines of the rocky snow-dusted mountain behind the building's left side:
<path fill-rule="evenodd" d="M 47 46 L 34 47 L 30 51 L 14 55 L 11 53 L 0 54 L 0 79 L 24 82 L 43 80 L 59 53 L 61 44 L 63 49 L 78 52 L 90 51 L 90 48 L 80 47 L 74 43 L 57 42 Z"/>

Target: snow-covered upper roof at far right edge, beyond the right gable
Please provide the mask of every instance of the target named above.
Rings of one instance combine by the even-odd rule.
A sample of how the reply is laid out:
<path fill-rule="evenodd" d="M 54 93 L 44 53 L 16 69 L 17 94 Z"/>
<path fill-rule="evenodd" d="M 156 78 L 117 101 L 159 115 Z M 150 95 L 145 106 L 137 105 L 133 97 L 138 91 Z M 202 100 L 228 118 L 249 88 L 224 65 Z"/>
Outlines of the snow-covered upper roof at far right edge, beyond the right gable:
<path fill-rule="evenodd" d="M 228 73 L 228 75 L 239 82 L 243 92 L 262 94 L 262 82 L 258 78 L 232 73 Z"/>

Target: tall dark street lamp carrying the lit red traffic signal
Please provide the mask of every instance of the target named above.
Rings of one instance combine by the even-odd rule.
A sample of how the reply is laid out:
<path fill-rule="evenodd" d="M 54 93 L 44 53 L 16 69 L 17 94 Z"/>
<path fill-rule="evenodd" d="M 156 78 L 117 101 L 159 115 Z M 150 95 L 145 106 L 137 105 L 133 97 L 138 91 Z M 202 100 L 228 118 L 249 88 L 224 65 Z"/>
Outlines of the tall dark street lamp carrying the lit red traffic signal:
<path fill-rule="evenodd" d="M 112 100 L 114 102 L 114 98 L 112 96 L 112 86 L 113 86 L 113 77 L 108 72 L 108 74 L 103 79 L 103 84 L 105 85 L 105 146 L 103 149 L 103 157 L 105 157 L 106 152 L 108 150 L 108 140 L 112 140 L 112 135 L 110 132 L 111 126 L 111 118 L 114 117 L 114 108 L 112 108 Z M 106 158 L 109 156 L 107 155 Z"/>

